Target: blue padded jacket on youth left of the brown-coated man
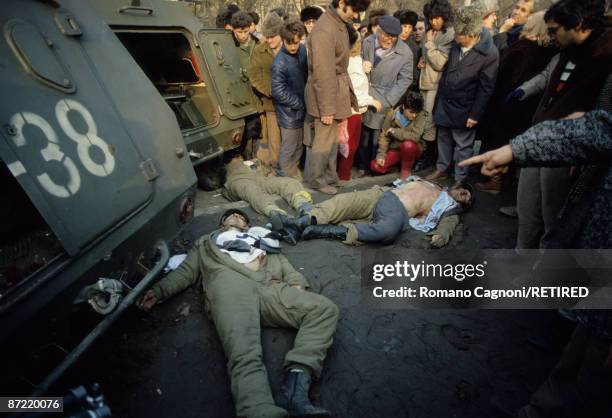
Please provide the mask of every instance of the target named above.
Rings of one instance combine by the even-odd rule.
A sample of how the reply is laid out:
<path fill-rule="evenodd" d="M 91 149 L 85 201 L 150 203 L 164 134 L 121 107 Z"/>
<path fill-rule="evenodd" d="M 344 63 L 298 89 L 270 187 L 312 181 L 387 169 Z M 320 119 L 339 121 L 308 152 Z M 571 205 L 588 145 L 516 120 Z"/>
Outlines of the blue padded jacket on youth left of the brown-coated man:
<path fill-rule="evenodd" d="M 308 78 L 306 48 L 292 55 L 281 49 L 272 62 L 272 100 L 278 125 L 284 129 L 304 127 L 304 89 Z"/>

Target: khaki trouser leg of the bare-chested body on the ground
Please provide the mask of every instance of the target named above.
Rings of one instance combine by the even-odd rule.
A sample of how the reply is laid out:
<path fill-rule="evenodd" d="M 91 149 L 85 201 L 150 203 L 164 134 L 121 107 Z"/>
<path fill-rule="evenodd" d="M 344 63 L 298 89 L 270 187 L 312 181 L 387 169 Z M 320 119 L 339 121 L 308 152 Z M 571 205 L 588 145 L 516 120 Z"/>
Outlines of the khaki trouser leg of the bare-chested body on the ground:
<path fill-rule="evenodd" d="M 355 223 L 369 222 L 372 219 L 378 199 L 386 191 L 382 187 L 373 187 L 351 193 L 342 193 L 315 205 L 310 212 L 317 219 L 317 224 L 340 224 L 346 226 L 345 244 L 357 245 L 357 228 Z"/>

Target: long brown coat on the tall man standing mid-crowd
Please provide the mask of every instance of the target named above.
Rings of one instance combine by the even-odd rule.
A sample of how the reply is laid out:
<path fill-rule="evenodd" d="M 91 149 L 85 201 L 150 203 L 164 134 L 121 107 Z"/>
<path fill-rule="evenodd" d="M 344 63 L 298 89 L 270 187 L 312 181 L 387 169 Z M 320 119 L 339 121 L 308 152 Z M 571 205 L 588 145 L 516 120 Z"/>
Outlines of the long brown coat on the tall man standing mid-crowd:
<path fill-rule="evenodd" d="M 349 118 L 351 108 L 357 109 L 358 106 L 347 71 L 350 52 L 348 31 L 333 7 L 329 6 L 317 20 L 306 45 L 306 110 L 315 118 Z"/>

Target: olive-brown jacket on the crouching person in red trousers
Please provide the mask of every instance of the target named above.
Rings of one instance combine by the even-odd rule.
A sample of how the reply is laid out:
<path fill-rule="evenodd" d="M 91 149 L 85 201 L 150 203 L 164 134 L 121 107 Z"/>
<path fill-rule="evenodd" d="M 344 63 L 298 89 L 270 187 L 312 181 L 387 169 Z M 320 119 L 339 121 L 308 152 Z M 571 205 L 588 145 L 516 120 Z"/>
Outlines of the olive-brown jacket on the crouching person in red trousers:
<path fill-rule="evenodd" d="M 378 151 L 376 153 L 376 159 L 386 158 L 387 151 L 389 149 L 399 148 L 399 144 L 404 141 L 413 141 L 419 144 L 421 151 L 425 149 L 425 141 L 433 141 L 435 138 L 428 138 L 428 132 L 425 131 L 427 125 L 427 118 L 429 112 L 422 110 L 417 114 L 417 117 L 410 122 L 407 128 L 403 128 L 395 120 L 395 112 L 397 108 L 390 109 L 385 116 L 383 122 L 382 131 L 378 138 Z M 390 134 L 387 135 L 387 131 L 391 129 Z"/>

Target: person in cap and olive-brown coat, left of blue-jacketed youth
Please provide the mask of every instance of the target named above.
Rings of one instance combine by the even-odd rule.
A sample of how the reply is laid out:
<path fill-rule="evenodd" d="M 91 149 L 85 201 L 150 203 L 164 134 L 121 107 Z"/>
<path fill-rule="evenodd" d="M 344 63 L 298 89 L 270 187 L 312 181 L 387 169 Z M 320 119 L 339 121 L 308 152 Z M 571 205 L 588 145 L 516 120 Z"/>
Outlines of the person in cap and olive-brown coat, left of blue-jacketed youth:
<path fill-rule="evenodd" d="M 283 19 L 276 13 L 266 15 L 262 25 L 264 41 L 255 47 L 249 70 L 251 84 L 259 99 L 259 110 L 262 112 L 262 141 L 257 149 L 257 158 L 271 170 L 278 168 L 281 145 L 280 128 L 272 103 L 271 69 L 274 57 L 283 46 L 280 36 L 282 26 Z"/>

